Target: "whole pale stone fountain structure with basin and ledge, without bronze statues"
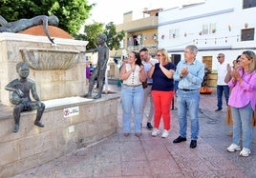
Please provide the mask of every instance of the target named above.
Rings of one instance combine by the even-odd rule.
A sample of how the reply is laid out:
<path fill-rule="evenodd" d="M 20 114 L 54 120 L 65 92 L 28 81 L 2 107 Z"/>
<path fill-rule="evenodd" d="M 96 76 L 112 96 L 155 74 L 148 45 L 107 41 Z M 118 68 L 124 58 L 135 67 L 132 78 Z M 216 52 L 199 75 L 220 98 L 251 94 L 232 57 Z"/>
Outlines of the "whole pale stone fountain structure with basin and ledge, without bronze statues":
<path fill-rule="evenodd" d="M 10 177 L 117 131 L 117 94 L 93 100 L 87 92 L 85 49 L 88 42 L 20 33 L 0 33 L 0 177 Z M 28 62 L 30 77 L 46 105 L 45 128 L 33 126 L 36 111 L 22 112 L 20 129 L 5 86 L 17 78 L 16 63 Z M 100 109 L 100 112 L 97 110 Z"/>

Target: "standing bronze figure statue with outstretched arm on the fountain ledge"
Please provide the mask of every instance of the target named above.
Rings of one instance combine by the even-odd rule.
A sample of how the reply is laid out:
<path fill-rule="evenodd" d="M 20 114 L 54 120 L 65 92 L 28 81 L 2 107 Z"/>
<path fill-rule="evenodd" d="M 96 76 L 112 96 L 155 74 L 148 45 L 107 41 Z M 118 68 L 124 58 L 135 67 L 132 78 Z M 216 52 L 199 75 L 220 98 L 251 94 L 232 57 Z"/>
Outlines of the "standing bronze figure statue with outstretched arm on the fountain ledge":
<path fill-rule="evenodd" d="M 103 33 L 97 35 L 96 43 L 98 47 L 96 49 L 88 49 L 86 52 L 97 52 L 97 66 L 94 69 L 89 79 L 88 93 L 86 98 L 92 98 L 92 91 L 94 89 L 95 80 L 97 80 L 98 91 L 94 99 L 101 98 L 101 92 L 104 86 L 105 72 L 107 69 L 107 63 L 109 60 L 109 48 L 106 44 L 107 36 Z"/>

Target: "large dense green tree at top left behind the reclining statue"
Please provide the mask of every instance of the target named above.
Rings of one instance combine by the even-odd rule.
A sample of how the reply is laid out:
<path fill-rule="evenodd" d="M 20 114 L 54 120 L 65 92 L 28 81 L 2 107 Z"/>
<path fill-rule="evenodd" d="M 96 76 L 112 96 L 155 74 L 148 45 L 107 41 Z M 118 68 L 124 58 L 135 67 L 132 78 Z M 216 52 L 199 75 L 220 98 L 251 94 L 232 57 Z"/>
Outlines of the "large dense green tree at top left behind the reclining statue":
<path fill-rule="evenodd" d="M 0 0 L 0 14 L 10 22 L 37 15 L 56 15 L 58 27 L 75 35 L 95 6 L 87 4 L 87 0 Z"/>

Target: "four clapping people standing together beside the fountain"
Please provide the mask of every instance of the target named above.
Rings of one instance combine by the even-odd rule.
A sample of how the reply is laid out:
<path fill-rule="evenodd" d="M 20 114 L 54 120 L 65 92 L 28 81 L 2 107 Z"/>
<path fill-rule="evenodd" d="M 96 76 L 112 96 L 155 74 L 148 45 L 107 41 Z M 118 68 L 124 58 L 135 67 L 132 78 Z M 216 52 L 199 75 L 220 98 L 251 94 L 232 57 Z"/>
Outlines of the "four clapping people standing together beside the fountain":
<path fill-rule="evenodd" d="M 198 48 L 189 45 L 184 50 L 185 60 L 177 67 L 170 62 L 165 49 L 158 49 L 157 61 L 149 55 L 148 49 L 139 52 L 129 52 L 128 61 L 120 69 L 120 79 L 123 80 L 121 101 L 123 109 L 124 136 L 131 133 L 132 109 L 134 110 L 135 135 L 140 136 L 141 123 L 147 99 L 150 109 L 147 118 L 147 129 L 153 129 L 152 136 L 160 134 L 160 119 L 163 120 L 161 137 L 166 138 L 171 128 L 171 104 L 174 97 L 174 81 L 178 85 L 178 115 L 180 122 L 180 135 L 173 143 L 186 141 L 187 110 L 191 119 L 190 148 L 197 147 L 199 134 L 199 100 L 200 89 L 204 76 L 204 65 L 196 60 Z M 142 85 L 146 83 L 145 85 Z M 144 89 L 143 89 L 144 88 Z M 151 122 L 154 114 L 154 126 Z"/>

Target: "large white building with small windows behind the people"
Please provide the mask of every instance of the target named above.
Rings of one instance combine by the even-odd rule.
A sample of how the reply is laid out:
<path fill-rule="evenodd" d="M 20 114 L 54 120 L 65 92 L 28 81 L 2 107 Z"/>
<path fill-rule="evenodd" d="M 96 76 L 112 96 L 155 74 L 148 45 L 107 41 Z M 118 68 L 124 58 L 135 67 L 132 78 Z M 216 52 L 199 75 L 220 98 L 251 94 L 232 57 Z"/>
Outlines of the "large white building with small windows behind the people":
<path fill-rule="evenodd" d="M 197 59 L 213 72 L 223 52 L 231 64 L 246 49 L 256 52 L 256 0 L 205 0 L 159 12 L 159 49 L 174 61 L 187 45 L 199 48 Z"/>

